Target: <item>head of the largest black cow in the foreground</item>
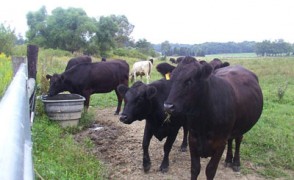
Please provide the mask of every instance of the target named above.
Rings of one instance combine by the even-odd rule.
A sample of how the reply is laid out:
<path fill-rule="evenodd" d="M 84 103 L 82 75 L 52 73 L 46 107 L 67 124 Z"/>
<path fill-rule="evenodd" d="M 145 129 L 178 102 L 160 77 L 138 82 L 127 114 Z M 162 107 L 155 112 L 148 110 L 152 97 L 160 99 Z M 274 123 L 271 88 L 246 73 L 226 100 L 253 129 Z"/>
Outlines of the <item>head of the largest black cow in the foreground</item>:
<path fill-rule="evenodd" d="M 168 113 L 190 113 L 191 107 L 203 101 L 207 92 L 207 80 L 212 73 L 208 63 L 200 64 L 197 61 L 185 61 L 179 64 L 172 72 L 172 87 L 164 108 Z"/>

